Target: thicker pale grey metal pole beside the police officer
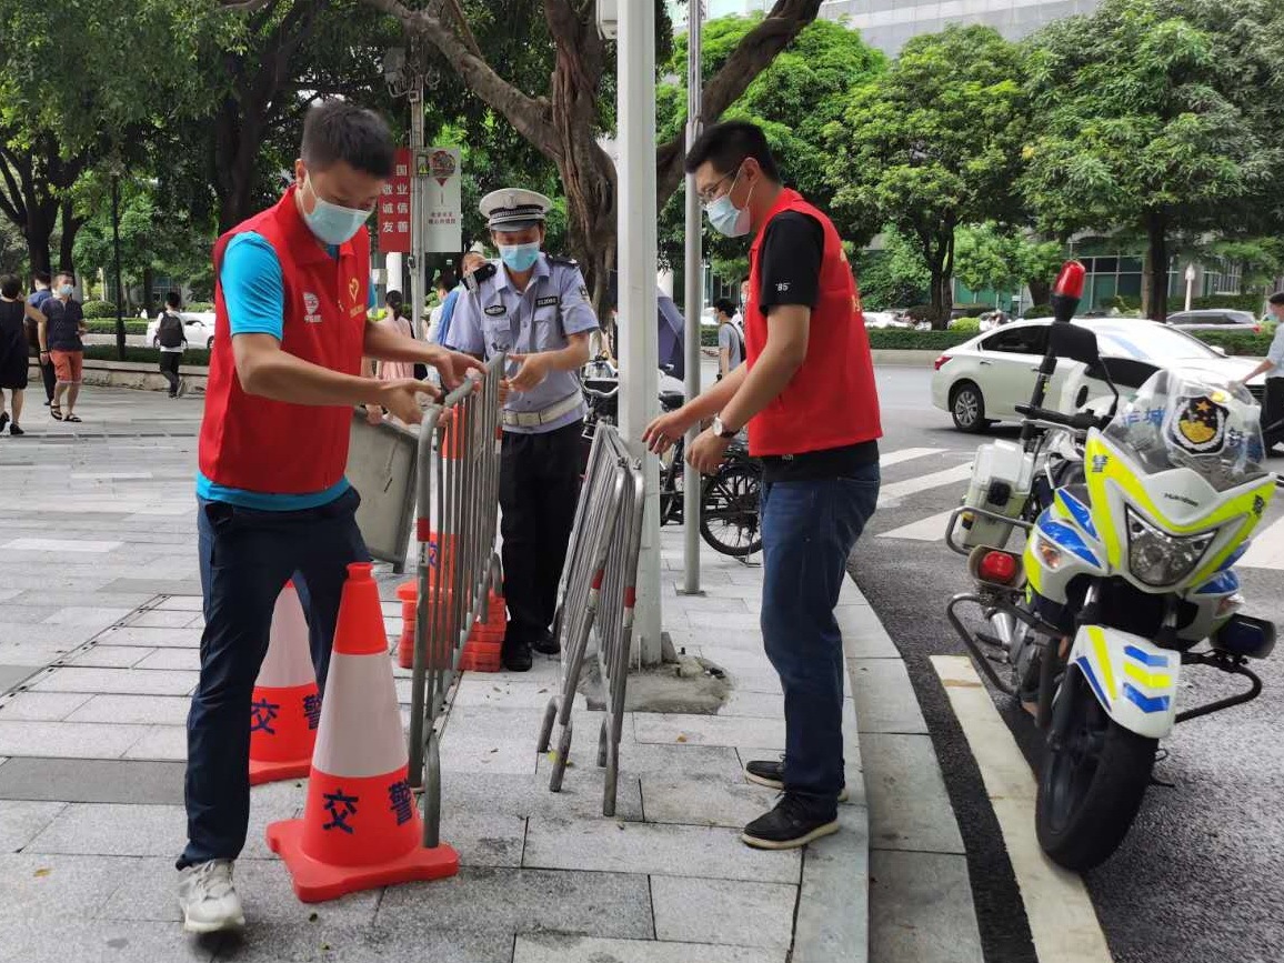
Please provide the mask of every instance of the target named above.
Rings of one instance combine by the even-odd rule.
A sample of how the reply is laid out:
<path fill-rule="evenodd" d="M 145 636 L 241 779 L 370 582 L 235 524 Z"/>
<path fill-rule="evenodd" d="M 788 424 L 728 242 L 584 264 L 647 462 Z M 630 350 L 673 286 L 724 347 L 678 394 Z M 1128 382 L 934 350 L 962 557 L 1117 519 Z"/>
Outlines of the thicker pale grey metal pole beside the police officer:
<path fill-rule="evenodd" d="M 642 446 L 659 410 L 656 338 L 655 0 L 619 5 L 620 433 L 646 474 L 634 650 L 657 665 L 660 638 L 660 464 Z"/>

